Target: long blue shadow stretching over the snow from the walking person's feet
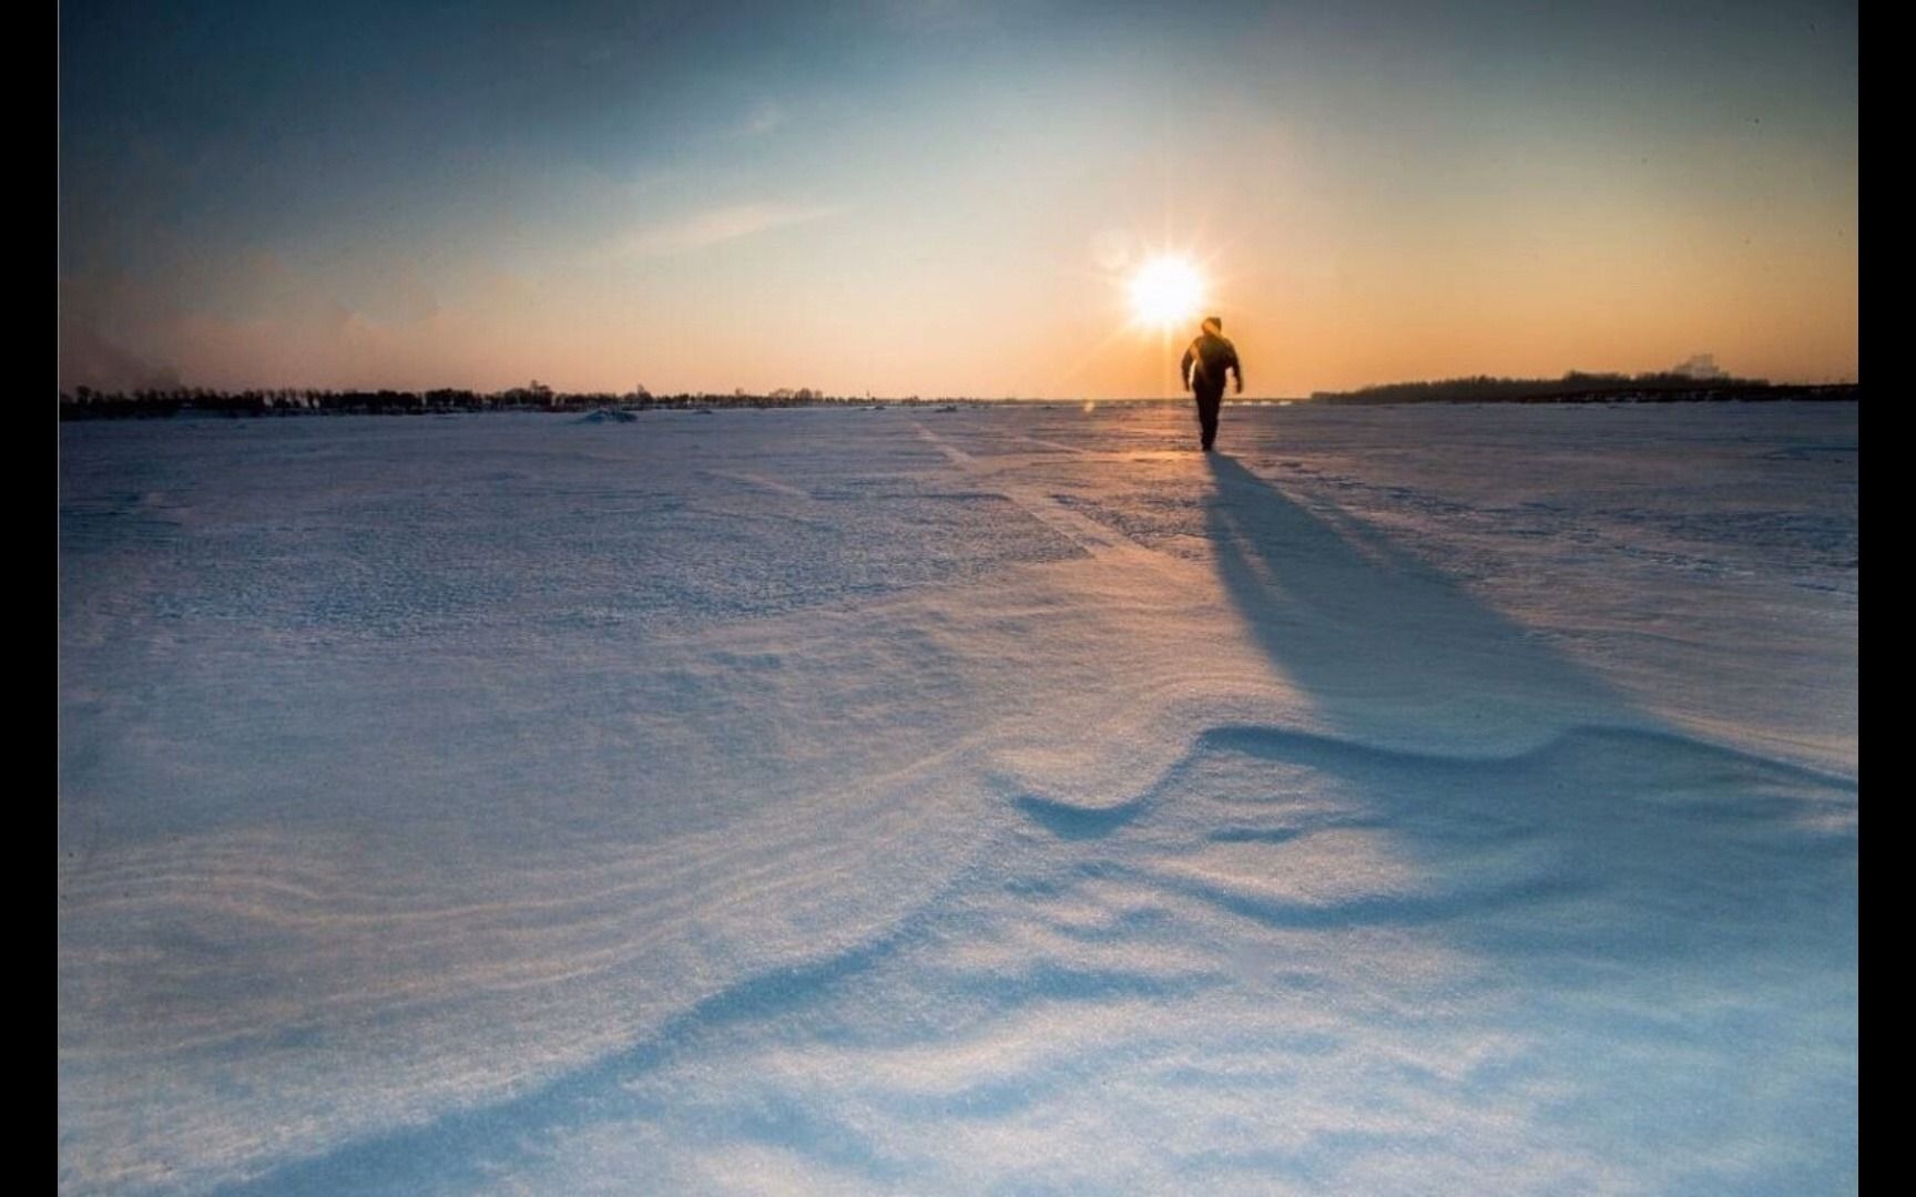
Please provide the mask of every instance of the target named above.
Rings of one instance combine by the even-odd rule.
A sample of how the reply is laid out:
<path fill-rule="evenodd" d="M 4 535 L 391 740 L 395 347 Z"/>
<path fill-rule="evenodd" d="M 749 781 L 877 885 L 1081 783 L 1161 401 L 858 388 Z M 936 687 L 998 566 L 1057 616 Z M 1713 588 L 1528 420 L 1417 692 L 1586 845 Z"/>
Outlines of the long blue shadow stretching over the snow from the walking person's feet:
<path fill-rule="evenodd" d="M 1188 789 L 1192 770 L 1224 751 L 1335 779 L 1362 795 L 1372 825 L 1420 871 L 1466 875 L 1445 898 L 1343 910 L 1198 894 L 1259 921 L 1441 921 L 1471 910 L 1468 875 L 1504 873 L 1502 931 L 1464 935 L 1493 956 L 1548 937 L 1548 917 L 1531 925 L 1527 910 L 1577 891 L 1598 894 L 1617 919 L 1577 938 L 1623 958 L 1655 940 L 1701 944 L 1713 931 L 1774 944 L 1813 927 L 1836 954 L 1832 967 L 1853 961 L 1853 779 L 1675 730 L 1378 529 L 1320 519 L 1226 456 L 1207 463 L 1217 485 L 1205 527 L 1222 588 L 1332 734 L 1215 728 L 1142 801 L 1096 824 L 1042 820 L 1054 833 L 1106 835 Z M 1487 726 L 1498 734 L 1479 735 Z M 1512 741 L 1531 747 L 1512 751 Z M 1282 820 L 1215 831 L 1215 843 L 1274 850 L 1301 835 Z M 1504 841 L 1558 866 L 1517 883 L 1533 870 L 1506 873 Z M 1801 875 L 1776 875 L 1791 866 Z M 1694 923 L 1661 923 L 1657 910 L 1684 910 Z"/>

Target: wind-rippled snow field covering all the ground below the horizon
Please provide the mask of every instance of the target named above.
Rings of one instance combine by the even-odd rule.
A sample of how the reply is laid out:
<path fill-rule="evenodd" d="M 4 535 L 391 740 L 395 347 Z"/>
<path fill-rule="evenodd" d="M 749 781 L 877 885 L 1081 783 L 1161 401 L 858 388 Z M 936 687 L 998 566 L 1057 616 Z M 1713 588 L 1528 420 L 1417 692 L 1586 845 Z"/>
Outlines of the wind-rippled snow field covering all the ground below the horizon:
<path fill-rule="evenodd" d="M 1839 1191 L 1857 416 L 61 429 L 71 1191 Z"/>

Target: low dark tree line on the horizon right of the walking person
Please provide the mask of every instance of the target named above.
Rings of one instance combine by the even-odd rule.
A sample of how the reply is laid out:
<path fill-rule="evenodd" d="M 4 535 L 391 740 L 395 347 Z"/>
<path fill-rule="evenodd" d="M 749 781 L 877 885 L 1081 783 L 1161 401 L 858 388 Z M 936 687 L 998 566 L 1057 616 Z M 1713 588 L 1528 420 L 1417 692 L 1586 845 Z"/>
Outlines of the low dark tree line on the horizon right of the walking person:
<path fill-rule="evenodd" d="M 1357 391 L 1314 391 L 1312 400 L 1341 404 L 1414 402 L 1719 402 L 1778 398 L 1857 398 L 1855 383 L 1772 385 L 1765 379 L 1696 377 L 1694 373 L 1583 373 L 1560 379 L 1454 377 L 1435 383 L 1383 383 Z"/>

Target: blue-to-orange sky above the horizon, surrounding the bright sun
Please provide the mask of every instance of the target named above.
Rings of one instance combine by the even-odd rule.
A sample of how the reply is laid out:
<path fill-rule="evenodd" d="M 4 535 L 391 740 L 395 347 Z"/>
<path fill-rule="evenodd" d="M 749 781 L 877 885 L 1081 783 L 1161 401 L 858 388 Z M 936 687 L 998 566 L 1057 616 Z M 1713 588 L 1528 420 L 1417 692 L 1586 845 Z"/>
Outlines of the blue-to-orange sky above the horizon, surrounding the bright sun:
<path fill-rule="evenodd" d="M 59 383 L 1857 379 L 1855 6 L 1539 8 L 63 4 Z"/>

